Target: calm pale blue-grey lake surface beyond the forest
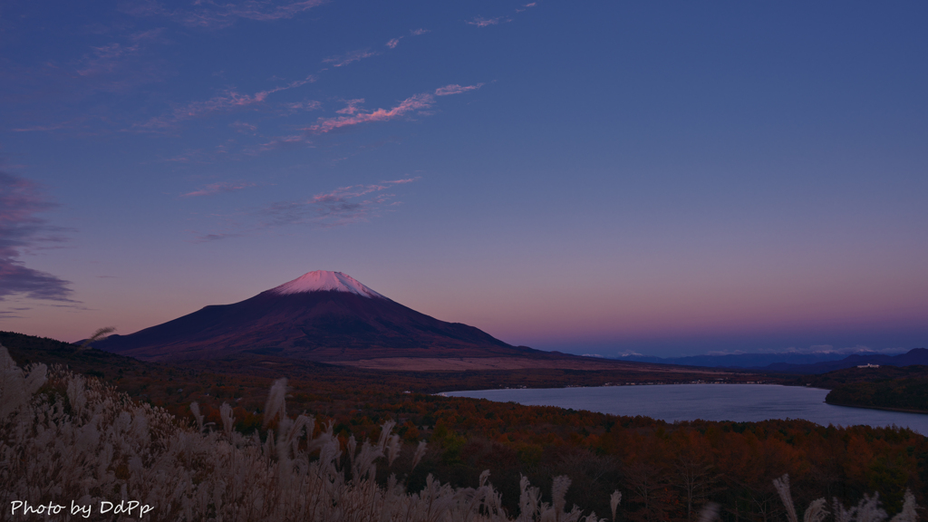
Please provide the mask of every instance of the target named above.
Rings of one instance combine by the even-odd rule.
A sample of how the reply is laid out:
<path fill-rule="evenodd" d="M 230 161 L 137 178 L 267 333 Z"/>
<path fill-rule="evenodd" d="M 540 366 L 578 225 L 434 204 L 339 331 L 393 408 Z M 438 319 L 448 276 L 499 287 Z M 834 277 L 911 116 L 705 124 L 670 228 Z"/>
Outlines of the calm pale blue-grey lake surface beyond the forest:
<path fill-rule="evenodd" d="M 447 392 L 449 397 L 514 401 L 613 415 L 676 421 L 757 422 L 806 419 L 816 424 L 897 425 L 928 436 L 928 414 L 868 410 L 825 404 L 828 390 L 780 385 L 637 385 Z"/>

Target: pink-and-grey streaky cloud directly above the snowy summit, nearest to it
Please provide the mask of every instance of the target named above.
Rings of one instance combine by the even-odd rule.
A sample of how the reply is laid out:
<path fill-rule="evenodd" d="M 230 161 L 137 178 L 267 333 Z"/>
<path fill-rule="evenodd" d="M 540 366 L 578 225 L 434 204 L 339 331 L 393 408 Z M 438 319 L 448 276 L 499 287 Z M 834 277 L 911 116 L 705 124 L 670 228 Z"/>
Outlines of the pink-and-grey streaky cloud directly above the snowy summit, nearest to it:
<path fill-rule="evenodd" d="M 412 183 L 418 177 L 381 181 L 372 185 L 352 185 L 330 190 L 303 201 L 274 202 L 252 212 L 258 223 L 249 228 L 234 228 L 197 236 L 196 242 L 218 241 L 251 235 L 267 228 L 308 226 L 333 228 L 360 223 L 396 206 L 395 194 L 387 192 L 399 185 Z"/>

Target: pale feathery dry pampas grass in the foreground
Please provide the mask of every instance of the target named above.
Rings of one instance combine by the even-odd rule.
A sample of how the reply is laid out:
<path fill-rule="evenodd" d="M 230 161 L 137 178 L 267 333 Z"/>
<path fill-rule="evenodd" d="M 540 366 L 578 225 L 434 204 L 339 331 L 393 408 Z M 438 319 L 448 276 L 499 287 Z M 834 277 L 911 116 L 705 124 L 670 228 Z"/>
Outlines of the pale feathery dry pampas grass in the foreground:
<path fill-rule="evenodd" d="M 132 515 L 99 515 L 100 502 L 134 500 L 153 506 L 142 517 L 164 521 L 357 521 L 357 522 L 599 522 L 564 495 L 570 478 L 553 479 L 550 499 L 522 477 L 519 513 L 503 510 L 499 493 L 483 472 L 477 488 L 453 488 L 429 476 L 409 493 L 395 475 L 378 483 L 377 467 L 391 466 L 401 450 L 393 422 L 381 426 L 376 441 L 351 437 L 342 444 L 332 424 L 313 416 L 290 418 L 286 380 L 270 390 L 264 409 L 264 440 L 233 429 L 232 408 L 223 404 L 222 426 L 204 424 L 191 405 L 195 425 L 166 411 L 61 368 L 33 364 L 21 369 L 0 346 L 0 520 L 85 520 L 82 515 L 12 515 L 11 502 L 54 502 L 95 506 L 90 519 L 135 520 Z M 415 467 L 425 442 L 413 455 Z M 789 477 L 775 481 L 788 522 L 798 522 Z M 610 498 L 617 520 L 622 495 Z M 819 499 L 804 522 L 883 522 L 879 496 L 844 507 Z M 918 506 L 907 493 L 892 522 L 915 522 Z M 710 503 L 700 520 L 718 518 Z M 135 515 L 135 517 L 132 517 Z M 514 516 L 514 518 L 512 517 Z M 605 520 L 605 519 L 603 519 Z"/>

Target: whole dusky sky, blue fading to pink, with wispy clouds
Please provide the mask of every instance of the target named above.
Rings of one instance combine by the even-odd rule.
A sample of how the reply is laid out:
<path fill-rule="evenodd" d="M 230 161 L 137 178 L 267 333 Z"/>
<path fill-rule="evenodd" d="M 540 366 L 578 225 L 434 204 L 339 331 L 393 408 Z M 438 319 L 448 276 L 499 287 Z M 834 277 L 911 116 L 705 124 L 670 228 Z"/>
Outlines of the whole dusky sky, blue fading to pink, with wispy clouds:
<path fill-rule="evenodd" d="M 928 4 L 5 0 L 0 329 L 316 269 L 510 344 L 928 345 Z"/>

